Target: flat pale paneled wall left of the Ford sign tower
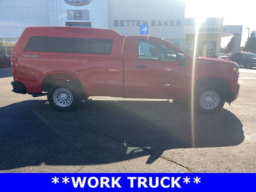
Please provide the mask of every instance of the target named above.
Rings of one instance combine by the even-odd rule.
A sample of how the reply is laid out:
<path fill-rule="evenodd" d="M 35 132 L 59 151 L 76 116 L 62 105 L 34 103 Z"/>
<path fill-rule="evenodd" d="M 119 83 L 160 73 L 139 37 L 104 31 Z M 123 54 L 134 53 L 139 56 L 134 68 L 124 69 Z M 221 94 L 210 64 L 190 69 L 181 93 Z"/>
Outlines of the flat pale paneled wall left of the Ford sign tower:
<path fill-rule="evenodd" d="M 18 38 L 27 26 L 48 26 L 47 0 L 0 0 L 0 38 Z"/>

